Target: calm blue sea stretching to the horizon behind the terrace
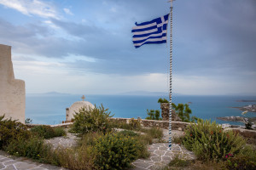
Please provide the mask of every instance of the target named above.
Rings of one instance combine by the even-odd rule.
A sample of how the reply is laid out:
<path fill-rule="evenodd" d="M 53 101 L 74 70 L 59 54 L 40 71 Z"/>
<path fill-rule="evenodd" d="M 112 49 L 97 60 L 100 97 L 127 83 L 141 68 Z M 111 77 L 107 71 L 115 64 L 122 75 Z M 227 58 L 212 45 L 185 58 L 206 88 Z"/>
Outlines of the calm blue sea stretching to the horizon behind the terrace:
<path fill-rule="evenodd" d="M 159 98 L 167 96 L 139 96 L 139 95 L 86 95 L 86 101 L 92 104 L 103 105 L 114 115 L 113 117 L 145 118 L 147 109 L 160 110 Z M 202 119 L 211 119 L 218 123 L 240 124 L 240 122 L 224 122 L 216 119 L 218 116 L 241 116 L 239 107 L 255 105 L 255 102 L 237 102 L 237 100 L 255 100 L 253 96 L 186 96 L 172 97 L 175 104 L 189 104 L 192 116 Z M 26 118 L 31 118 L 36 124 L 58 124 L 66 120 L 66 108 L 74 102 L 82 100 L 80 95 L 71 94 L 26 94 Z M 248 112 L 247 116 L 256 116 Z"/>

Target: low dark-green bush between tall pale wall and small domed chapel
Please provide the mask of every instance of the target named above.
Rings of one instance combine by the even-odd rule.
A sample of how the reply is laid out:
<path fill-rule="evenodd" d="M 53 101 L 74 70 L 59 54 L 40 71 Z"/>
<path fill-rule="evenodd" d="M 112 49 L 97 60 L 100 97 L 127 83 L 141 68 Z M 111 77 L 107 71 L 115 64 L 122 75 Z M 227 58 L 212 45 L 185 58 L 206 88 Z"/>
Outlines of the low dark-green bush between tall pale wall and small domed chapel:
<path fill-rule="evenodd" d="M 66 131 L 64 130 L 63 127 L 50 127 L 46 125 L 32 127 L 31 132 L 38 134 L 40 137 L 44 139 L 50 139 L 50 138 L 66 135 Z"/>

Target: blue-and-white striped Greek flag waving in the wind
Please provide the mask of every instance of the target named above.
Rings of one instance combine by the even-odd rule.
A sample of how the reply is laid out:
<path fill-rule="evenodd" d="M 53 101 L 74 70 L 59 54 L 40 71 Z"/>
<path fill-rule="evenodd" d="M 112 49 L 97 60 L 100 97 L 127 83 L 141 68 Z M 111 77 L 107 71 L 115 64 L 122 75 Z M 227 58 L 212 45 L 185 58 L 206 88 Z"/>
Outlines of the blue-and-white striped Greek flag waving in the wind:
<path fill-rule="evenodd" d="M 165 43 L 167 39 L 168 16 L 169 14 L 166 14 L 165 16 L 141 24 L 137 24 L 136 22 L 136 26 L 131 30 L 134 46 L 139 48 L 147 43 Z"/>

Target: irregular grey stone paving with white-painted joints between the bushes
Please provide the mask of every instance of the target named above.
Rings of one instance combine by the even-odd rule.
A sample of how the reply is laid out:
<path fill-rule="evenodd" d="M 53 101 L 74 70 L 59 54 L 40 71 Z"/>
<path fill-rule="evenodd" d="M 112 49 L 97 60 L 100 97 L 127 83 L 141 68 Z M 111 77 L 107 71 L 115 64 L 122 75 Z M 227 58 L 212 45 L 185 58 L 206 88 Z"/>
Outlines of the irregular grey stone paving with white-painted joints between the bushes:
<path fill-rule="evenodd" d="M 168 130 L 164 129 L 164 137 L 162 141 L 167 142 Z M 172 130 L 172 137 L 180 137 L 182 131 Z M 63 147 L 73 147 L 76 144 L 77 137 L 72 133 L 67 133 L 66 137 L 57 137 L 54 139 L 45 140 L 46 143 L 52 144 L 53 148 L 58 145 Z M 148 145 L 150 156 L 147 159 L 138 159 L 132 163 L 131 170 L 157 170 L 165 167 L 175 156 L 186 160 L 195 159 L 194 154 L 186 150 L 179 144 L 172 144 L 172 150 L 168 150 L 168 143 L 155 143 Z M 63 167 L 55 167 L 47 164 L 42 164 L 27 160 L 22 157 L 9 156 L 0 150 L 0 170 L 67 170 Z"/>

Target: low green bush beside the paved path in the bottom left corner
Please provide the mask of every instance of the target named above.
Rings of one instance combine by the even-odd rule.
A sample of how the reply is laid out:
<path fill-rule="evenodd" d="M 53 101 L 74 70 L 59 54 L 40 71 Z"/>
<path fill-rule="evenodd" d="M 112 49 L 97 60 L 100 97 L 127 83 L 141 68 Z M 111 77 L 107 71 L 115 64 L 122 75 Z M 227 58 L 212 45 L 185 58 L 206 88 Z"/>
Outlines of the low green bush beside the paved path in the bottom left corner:
<path fill-rule="evenodd" d="M 40 160 L 48 156 L 50 146 L 44 144 L 43 139 L 33 137 L 28 139 L 13 139 L 3 150 L 8 151 L 9 154 L 14 156 L 24 156 Z"/>

